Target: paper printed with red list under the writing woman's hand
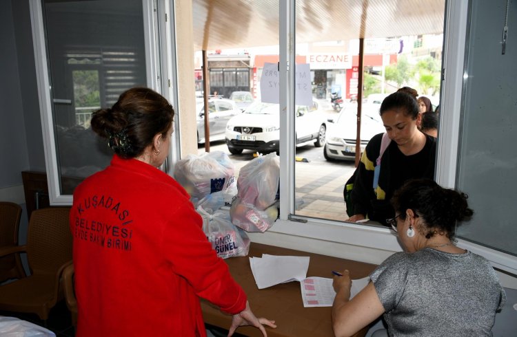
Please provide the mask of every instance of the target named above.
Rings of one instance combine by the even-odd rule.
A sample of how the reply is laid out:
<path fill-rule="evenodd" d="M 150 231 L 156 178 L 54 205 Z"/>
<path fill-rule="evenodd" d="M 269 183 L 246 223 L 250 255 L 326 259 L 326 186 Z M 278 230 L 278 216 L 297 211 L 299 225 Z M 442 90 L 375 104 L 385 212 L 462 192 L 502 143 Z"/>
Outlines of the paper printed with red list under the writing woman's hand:
<path fill-rule="evenodd" d="M 361 292 L 369 282 L 369 277 L 352 280 L 350 299 Z M 336 292 L 332 287 L 332 279 L 324 277 L 307 277 L 300 282 L 304 307 L 332 307 Z"/>

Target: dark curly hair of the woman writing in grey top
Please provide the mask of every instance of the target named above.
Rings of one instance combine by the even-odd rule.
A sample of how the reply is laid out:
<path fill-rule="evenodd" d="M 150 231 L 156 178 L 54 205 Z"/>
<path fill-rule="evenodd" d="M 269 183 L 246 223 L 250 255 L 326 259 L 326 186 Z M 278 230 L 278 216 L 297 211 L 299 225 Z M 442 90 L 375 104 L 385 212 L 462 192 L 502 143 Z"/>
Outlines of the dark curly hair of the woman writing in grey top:
<path fill-rule="evenodd" d="M 467 199 L 465 193 L 443 188 L 433 180 L 414 179 L 398 188 L 391 202 L 401 219 L 406 219 L 408 209 L 423 219 L 425 232 L 422 234 L 427 239 L 436 232 L 445 232 L 452 239 L 456 234 L 456 226 L 474 214 Z"/>

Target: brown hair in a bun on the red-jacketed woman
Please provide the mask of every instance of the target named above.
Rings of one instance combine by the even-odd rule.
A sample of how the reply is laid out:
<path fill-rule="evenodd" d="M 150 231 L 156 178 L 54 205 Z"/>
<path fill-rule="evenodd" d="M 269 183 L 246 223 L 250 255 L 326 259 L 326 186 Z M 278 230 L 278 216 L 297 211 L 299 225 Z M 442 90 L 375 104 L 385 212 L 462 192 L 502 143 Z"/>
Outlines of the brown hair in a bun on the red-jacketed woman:
<path fill-rule="evenodd" d="M 135 87 L 124 91 L 108 109 L 92 114 L 92 130 L 108 138 L 108 146 L 121 157 L 134 158 L 152 144 L 154 135 L 165 135 L 172 126 L 174 109 L 156 91 Z"/>

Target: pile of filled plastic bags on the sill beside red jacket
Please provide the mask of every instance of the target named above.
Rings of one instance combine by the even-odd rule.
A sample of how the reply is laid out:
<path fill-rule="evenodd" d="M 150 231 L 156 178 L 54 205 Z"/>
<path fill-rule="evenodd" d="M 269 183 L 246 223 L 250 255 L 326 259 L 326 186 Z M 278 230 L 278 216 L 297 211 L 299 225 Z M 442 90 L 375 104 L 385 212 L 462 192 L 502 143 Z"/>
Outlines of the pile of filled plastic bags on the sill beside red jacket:
<path fill-rule="evenodd" d="M 241 168 L 237 182 L 234 171 L 222 151 L 187 155 L 174 166 L 176 181 L 190 194 L 203 217 L 208 241 L 223 259 L 246 256 L 250 250 L 246 232 L 265 232 L 278 218 L 278 155 L 254 158 Z M 225 205 L 230 214 L 221 210 Z"/>

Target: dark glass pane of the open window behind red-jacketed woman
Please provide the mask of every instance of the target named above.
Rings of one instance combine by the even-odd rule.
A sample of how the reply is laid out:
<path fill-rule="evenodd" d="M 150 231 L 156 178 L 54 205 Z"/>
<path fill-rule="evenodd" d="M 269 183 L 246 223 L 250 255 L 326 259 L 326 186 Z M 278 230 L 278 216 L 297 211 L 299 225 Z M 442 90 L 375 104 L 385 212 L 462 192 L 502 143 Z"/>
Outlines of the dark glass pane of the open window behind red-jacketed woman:
<path fill-rule="evenodd" d="M 61 194 L 112 157 L 90 129 L 91 113 L 125 89 L 145 86 L 140 0 L 44 1 L 52 113 Z"/>

